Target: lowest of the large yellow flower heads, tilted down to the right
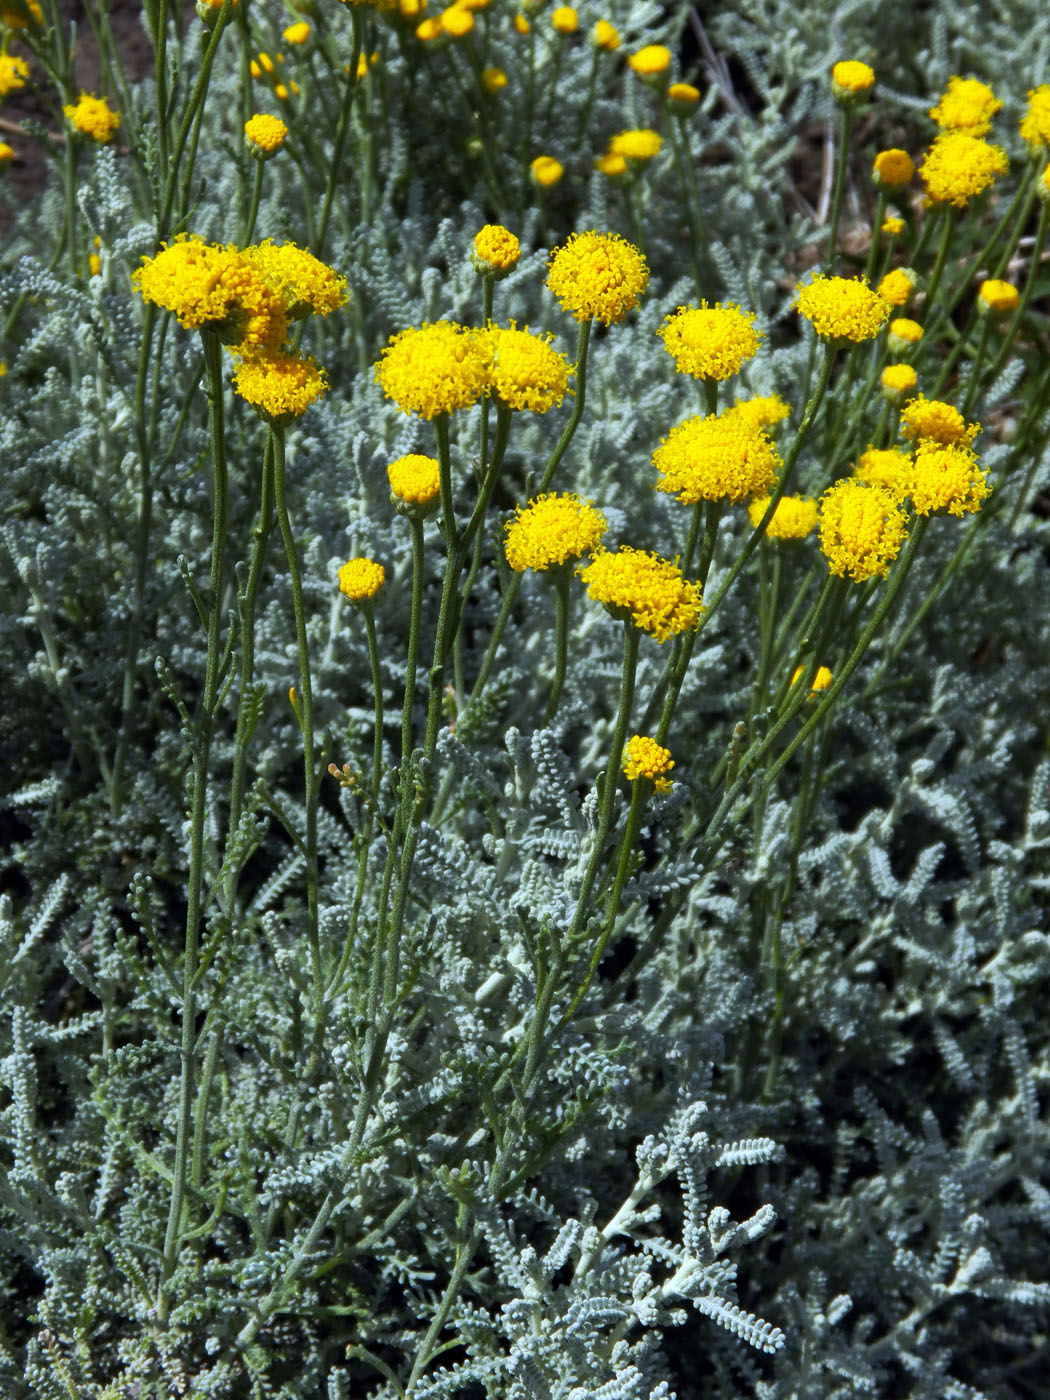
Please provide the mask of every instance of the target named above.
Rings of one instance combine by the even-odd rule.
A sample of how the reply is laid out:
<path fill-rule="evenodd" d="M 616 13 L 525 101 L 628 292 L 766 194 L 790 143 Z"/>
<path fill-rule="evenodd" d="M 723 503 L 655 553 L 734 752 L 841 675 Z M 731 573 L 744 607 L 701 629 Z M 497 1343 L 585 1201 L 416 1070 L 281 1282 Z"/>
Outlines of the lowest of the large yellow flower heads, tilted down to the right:
<path fill-rule="evenodd" d="M 657 641 L 692 631 L 700 623 L 704 610 L 700 588 L 659 554 L 630 545 L 598 549 L 577 573 L 595 602 L 605 603 L 615 617 L 630 619 Z"/>

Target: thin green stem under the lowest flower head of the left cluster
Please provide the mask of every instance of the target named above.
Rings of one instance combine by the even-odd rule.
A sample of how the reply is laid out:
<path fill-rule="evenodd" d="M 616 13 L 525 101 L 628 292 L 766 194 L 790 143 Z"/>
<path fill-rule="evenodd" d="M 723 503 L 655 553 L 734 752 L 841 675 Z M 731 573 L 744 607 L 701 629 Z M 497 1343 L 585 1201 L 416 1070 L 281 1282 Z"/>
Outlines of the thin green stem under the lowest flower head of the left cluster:
<path fill-rule="evenodd" d="M 273 441 L 273 501 L 277 512 L 284 557 L 288 561 L 291 582 L 291 608 L 295 615 L 295 645 L 300 661 L 300 728 L 302 731 L 304 802 L 307 812 L 305 857 L 307 857 L 307 946 L 309 948 L 311 980 L 314 984 L 314 1049 L 307 1067 L 308 1077 L 315 1071 L 325 1025 L 325 979 L 321 966 L 321 935 L 318 930 L 318 798 L 321 794 L 321 769 L 314 750 L 314 689 L 309 678 L 309 641 L 307 638 L 307 613 L 302 603 L 302 574 L 300 571 L 295 536 L 291 532 L 288 503 L 284 493 L 284 424 L 270 426 Z"/>

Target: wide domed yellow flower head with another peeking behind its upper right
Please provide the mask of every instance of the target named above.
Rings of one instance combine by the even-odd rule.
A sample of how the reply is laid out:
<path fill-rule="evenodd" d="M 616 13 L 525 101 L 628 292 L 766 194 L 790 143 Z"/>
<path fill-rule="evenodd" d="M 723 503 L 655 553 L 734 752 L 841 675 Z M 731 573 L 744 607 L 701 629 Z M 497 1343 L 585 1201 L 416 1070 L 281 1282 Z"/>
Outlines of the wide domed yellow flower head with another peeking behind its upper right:
<path fill-rule="evenodd" d="M 781 465 L 766 431 L 729 409 L 686 419 L 652 454 L 657 490 L 683 505 L 769 494 Z"/>

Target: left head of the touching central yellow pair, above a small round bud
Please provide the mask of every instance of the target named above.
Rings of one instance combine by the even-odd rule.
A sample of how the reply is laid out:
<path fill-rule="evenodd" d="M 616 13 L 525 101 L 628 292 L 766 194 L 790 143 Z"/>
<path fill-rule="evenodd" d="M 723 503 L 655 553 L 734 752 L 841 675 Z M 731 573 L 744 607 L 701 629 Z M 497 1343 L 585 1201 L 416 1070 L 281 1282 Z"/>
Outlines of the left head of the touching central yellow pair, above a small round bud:
<path fill-rule="evenodd" d="M 477 403 L 489 388 L 489 365 L 476 336 L 454 321 L 435 321 L 391 336 L 375 381 L 402 413 L 435 419 Z"/>

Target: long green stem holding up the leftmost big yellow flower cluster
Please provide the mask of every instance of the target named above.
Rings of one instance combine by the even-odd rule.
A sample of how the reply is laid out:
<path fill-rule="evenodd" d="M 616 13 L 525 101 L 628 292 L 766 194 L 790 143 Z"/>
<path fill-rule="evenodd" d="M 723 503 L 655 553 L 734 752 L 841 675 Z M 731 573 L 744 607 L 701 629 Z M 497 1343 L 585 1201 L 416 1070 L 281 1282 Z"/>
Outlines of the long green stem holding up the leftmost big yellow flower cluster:
<path fill-rule="evenodd" d="M 224 13 L 228 10 L 228 0 Z M 186 885 L 186 937 L 182 956 L 182 1042 L 179 1099 L 175 1128 L 175 1163 L 172 1168 L 168 1225 L 164 1233 L 161 1274 L 157 1288 L 157 1320 L 167 1324 L 171 1299 L 168 1282 L 175 1273 L 179 1245 L 185 1235 L 186 1168 L 193 1135 L 193 1085 L 196 1050 L 196 973 L 200 946 L 200 918 L 204 885 L 204 823 L 207 819 L 207 778 L 211 756 L 211 734 L 218 700 L 220 624 L 223 619 L 223 587 L 225 581 L 227 531 L 227 465 L 225 428 L 223 421 L 223 347 L 210 332 L 202 332 L 209 393 L 209 424 L 211 435 L 211 466 L 214 472 L 211 517 L 211 578 L 207 620 L 207 662 L 200 720 L 193 739 L 193 799 L 190 805 L 189 879 Z"/>

